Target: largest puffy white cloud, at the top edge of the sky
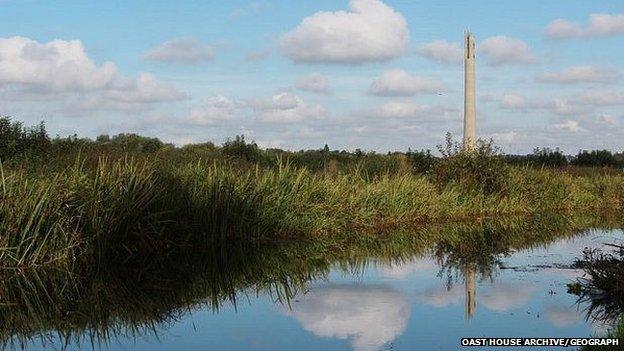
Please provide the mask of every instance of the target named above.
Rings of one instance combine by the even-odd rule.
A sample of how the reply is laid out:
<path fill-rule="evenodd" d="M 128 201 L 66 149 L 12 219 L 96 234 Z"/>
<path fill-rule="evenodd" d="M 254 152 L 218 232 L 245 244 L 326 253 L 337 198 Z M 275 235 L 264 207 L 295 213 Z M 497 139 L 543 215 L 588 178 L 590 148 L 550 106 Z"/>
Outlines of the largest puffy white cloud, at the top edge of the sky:
<path fill-rule="evenodd" d="M 408 42 L 403 15 L 379 0 L 350 0 L 349 11 L 304 18 L 280 47 L 295 62 L 354 64 L 401 56 Z"/>

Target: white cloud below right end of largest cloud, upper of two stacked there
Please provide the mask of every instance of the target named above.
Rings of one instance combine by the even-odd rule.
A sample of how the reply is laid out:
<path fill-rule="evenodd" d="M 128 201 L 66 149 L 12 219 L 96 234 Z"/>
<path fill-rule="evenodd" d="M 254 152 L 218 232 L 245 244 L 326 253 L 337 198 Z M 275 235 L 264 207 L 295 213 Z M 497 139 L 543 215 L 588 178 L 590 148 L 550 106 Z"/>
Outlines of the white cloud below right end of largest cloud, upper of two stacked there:
<path fill-rule="evenodd" d="M 414 96 L 433 94 L 444 89 L 441 81 L 410 74 L 401 69 L 383 72 L 369 88 L 369 93 L 377 96 Z"/>

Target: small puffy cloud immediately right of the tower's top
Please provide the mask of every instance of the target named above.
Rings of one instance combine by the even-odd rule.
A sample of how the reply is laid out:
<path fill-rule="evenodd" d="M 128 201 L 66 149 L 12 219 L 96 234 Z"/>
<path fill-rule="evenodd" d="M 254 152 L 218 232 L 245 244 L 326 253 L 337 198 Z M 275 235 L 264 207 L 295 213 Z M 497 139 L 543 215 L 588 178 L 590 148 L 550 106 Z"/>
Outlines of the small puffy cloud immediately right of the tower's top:
<path fill-rule="evenodd" d="M 477 47 L 477 53 L 483 53 L 487 63 L 493 66 L 535 62 L 531 48 L 524 41 L 504 35 L 485 39 Z"/>

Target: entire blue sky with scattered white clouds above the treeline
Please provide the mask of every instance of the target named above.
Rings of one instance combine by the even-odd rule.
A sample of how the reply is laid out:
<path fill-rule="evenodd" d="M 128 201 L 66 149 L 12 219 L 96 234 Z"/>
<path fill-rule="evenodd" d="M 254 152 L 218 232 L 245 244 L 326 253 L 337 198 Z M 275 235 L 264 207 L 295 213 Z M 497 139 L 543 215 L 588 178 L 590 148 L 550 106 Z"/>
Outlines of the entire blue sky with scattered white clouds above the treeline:
<path fill-rule="evenodd" d="M 624 149 L 624 2 L 0 0 L 0 115 L 52 135 L 404 151 Z"/>

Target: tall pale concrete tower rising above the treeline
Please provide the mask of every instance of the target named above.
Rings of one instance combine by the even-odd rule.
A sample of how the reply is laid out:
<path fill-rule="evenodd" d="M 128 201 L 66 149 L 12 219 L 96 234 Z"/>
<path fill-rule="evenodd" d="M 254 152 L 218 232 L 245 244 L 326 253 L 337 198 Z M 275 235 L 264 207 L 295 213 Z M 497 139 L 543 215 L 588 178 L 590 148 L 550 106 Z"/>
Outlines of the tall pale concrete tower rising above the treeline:
<path fill-rule="evenodd" d="M 472 150 L 477 141 L 477 106 L 475 103 L 475 44 L 470 31 L 466 31 L 464 56 L 464 149 Z"/>

